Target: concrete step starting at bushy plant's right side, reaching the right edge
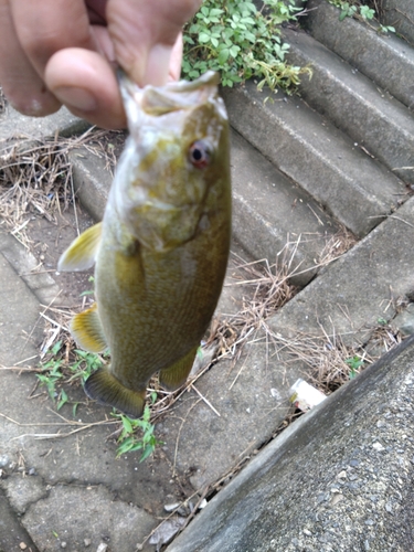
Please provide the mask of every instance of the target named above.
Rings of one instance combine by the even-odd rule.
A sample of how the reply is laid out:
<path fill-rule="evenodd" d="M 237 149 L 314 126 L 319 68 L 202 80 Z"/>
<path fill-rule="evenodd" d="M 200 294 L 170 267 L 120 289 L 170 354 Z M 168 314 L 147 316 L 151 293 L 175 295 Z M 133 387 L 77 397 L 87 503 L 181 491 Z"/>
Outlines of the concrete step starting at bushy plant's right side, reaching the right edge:
<path fill-rule="evenodd" d="M 290 63 L 310 64 L 301 97 L 395 174 L 414 183 L 414 116 L 399 100 L 305 32 L 285 30 Z M 406 169 L 410 167 L 411 169 Z"/>

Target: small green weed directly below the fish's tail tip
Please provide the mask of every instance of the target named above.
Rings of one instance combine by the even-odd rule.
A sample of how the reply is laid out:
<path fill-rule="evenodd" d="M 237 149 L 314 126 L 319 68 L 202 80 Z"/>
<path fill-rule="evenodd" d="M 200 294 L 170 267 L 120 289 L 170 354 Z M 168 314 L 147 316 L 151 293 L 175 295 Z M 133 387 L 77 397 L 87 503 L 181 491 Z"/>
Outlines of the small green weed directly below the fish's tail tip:
<path fill-rule="evenodd" d="M 157 393 L 151 393 L 151 403 L 157 400 Z M 118 437 L 117 457 L 126 453 L 142 450 L 139 461 L 144 461 L 156 449 L 157 445 L 163 445 L 162 440 L 158 440 L 153 435 L 155 425 L 151 424 L 151 411 L 148 404 L 144 408 L 144 415 L 140 420 L 131 420 L 125 414 L 114 414 L 123 424 L 123 431 Z M 137 435 L 137 432 L 140 435 Z"/>

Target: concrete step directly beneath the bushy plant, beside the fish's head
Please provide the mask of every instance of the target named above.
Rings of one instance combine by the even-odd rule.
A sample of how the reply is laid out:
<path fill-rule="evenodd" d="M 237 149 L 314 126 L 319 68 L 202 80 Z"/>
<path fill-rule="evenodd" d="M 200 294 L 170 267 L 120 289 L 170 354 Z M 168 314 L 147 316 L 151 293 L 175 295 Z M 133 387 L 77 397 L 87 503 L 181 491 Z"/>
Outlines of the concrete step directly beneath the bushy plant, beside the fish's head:
<path fill-rule="evenodd" d="M 261 93 L 253 82 L 223 96 L 232 126 L 355 235 L 405 198 L 391 171 L 300 98 Z"/>

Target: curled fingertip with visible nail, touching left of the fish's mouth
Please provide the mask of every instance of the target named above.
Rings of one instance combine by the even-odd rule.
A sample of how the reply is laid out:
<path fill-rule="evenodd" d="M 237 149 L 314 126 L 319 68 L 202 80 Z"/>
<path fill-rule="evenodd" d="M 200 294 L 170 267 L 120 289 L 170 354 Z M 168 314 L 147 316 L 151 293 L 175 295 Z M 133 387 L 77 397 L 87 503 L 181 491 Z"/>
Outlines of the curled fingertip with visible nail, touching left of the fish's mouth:
<path fill-rule="evenodd" d="M 49 61 L 45 81 L 73 114 L 104 128 L 125 128 L 126 119 L 115 73 L 98 53 L 65 49 Z"/>

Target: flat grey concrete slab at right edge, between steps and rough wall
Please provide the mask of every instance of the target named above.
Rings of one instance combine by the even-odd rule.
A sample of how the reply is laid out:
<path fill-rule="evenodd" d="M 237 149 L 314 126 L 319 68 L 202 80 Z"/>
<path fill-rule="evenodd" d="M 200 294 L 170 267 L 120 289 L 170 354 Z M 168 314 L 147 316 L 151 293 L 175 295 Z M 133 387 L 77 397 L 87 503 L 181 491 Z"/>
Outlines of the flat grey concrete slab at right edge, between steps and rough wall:
<path fill-rule="evenodd" d="M 378 320 L 392 320 L 402 299 L 414 293 L 414 198 L 394 216 L 296 295 L 272 319 L 284 337 L 322 336 L 335 329 L 347 343 L 368 341 Z"/>

